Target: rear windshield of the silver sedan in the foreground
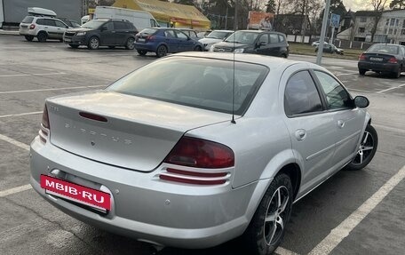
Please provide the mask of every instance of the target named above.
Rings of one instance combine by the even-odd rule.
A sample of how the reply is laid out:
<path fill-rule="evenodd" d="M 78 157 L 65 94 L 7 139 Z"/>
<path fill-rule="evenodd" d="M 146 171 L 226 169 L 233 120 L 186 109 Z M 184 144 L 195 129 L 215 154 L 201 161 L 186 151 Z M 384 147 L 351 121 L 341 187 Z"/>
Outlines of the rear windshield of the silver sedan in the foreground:
<path fill-rule="evenodd" d="M 232 113 L 234 106 L 234 113 L 242 116 L 267 72 L 257 64 L 170 57 L 139 68 L 106 90 L 223 113 Z"/>

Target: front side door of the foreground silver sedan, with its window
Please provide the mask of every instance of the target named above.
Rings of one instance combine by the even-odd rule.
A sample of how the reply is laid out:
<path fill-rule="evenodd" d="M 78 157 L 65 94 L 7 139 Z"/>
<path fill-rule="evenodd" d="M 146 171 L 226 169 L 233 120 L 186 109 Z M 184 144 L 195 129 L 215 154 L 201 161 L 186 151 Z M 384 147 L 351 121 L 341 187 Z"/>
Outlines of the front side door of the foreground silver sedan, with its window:
<path fill-rule="evenodd" d="M 333 116 L 336 149 L 331 171 L 338 171 L 353 159 L 357 151 L 366 112 L 354 106 L 349 92 L 338 79 L 322 70 L 314 70 L 314 76 L 322 88 L 327 110 Z"/>

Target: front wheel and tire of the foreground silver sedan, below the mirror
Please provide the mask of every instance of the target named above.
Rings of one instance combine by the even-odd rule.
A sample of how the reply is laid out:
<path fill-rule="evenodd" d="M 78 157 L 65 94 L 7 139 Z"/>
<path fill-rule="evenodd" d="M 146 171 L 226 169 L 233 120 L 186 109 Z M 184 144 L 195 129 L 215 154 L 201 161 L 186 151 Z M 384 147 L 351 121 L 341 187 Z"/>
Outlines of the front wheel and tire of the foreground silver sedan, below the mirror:
<path fill-rule="evenodd" d="M 370 124 L 361 137 L 361 143 L 351 163 L 345 166 L 345 170 L 361 170 L 373 159 L 378 146 L 377 131 Z"/>

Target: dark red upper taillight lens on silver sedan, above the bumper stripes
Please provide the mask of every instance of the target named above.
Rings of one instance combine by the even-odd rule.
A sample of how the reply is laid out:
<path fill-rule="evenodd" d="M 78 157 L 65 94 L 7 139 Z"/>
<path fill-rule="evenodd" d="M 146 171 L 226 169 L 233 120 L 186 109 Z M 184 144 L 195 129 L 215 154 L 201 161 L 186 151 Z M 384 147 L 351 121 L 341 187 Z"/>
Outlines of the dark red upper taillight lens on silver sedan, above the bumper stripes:
<path fill-rule="evenodd" d="M 213 141 L 183 137 L 164 162 L 196 168 L 226 168 L 234 166 L 234 152 Z"/>

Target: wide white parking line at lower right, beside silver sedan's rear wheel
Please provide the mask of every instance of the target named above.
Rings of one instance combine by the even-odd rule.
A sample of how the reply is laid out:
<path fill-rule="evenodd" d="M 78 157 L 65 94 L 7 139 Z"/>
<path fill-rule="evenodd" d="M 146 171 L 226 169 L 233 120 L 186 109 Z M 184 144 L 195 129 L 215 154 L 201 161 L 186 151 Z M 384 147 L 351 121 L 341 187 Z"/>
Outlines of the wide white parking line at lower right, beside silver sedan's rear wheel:
<path fill-rule="evenodd" d="M 396 187 L 402 179 L 405 178 L 405 165 L 398 171 L 391 179 L 389 179 L 383 187 L 380 187 L 377 192 L 369 197 L 369 199 L 362 203 L 356 211 L 346 218 L 342 223 L 330 231 L 330 235 L 326 236 L 321 243 L 309 252 L 310 255 L 329 254 L 330 251 L 335 249 L 339 243 L 345 239 L 346 236 L 352 232 L 354 227 L 359 225 L 362 219 L 369 215 L 370 211 L 376 208 L 377 204 L 383 201 L 394 187 Z"/>

